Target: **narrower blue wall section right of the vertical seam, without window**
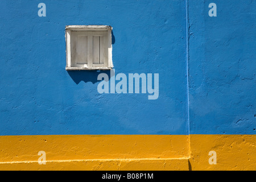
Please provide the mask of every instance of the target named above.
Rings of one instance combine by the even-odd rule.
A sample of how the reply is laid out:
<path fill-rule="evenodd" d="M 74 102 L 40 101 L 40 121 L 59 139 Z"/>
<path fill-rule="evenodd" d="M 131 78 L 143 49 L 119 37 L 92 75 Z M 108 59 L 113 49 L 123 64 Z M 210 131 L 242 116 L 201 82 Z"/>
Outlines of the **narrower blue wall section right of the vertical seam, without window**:
<path fill-rule="evenodd" d="M 189 1 L 191 134 L 256 134 L 255 9 L 254 0 Z"/>

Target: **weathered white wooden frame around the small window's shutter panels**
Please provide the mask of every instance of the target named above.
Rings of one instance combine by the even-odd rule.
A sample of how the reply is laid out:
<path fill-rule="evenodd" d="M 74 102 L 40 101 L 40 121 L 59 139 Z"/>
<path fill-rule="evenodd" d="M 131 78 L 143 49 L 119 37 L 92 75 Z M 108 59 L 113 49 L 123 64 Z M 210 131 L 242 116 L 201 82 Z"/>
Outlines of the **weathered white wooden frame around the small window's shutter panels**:
<path fill-rule="evenodd" d="M 66 70 L 109 70 L 113 68 L 112 63 L 112 27 L 110 26 L 66 26 L 65 38 L 66 38 Z M 85 36 L 88 38 L 88 60 L 87 64 L 77 64 L 75 59 L 72 60 L 72 44 L 76 42 L 73 40 L 75 34 L 80 34 L 80 31 L 83 31 Z M 100 52 L 100 55 L 103 56 L 103 62 L 98 64 L 93 64 L 92 60 L 92 50 L 93 47 L 92 40 L 94 36 L 100 37 L 99 39 L 104 39 L 103 52 Z M 106 41 L 107 40 L 107 41 Z M 76 42 L 77 43 L 77 42 Z"/>

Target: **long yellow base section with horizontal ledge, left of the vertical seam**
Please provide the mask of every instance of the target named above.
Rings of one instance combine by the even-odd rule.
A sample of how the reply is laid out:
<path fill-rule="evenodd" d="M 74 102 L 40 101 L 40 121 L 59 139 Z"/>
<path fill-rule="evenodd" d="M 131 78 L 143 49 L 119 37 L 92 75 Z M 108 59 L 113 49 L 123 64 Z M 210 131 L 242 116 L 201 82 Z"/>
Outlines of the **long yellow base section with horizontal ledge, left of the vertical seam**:
<path fill-rule="evenodd" d="M 0 169 L 30 169 L 28 166 L 63 169 L 65 166 L 65 169 L 86 170 L 162 170 L 188 166 L 187 135 L 3 136 L 0 143 Z M 46 165 L 39 166 L 39 151 L 46 152 Z M 170 160 L 177 165 L 168 166 L 170 162 L 166 161 Z"/>

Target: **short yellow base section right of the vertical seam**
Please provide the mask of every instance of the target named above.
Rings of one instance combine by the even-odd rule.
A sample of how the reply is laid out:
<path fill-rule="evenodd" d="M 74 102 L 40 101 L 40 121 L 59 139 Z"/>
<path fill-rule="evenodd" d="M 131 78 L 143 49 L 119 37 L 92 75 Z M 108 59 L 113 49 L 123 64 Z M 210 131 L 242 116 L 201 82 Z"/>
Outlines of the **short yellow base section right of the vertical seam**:
<path fill-rule="evenodd" d="M 256 170 L 256 135 L 190 135 L 192 170 Z M 209 164 L 215 151 L 217 164 Z"/>

